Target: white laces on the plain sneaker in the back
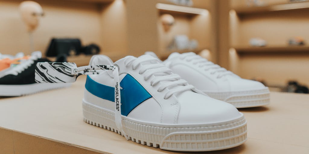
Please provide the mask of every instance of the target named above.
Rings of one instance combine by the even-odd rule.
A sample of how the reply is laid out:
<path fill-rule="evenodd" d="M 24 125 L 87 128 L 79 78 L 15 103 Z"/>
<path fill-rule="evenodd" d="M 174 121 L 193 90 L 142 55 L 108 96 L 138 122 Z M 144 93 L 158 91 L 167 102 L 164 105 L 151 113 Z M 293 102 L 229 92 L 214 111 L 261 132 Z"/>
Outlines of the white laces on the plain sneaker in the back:
<path fill-rule="evenodd" d="M 180 55 L 180 59 L 185 59 L 188 62 L 193 62 L 194 65 L 198 64 L 198 67 L 204 68 L 204 71 L 211 71 L 210 74 L 217 73 L 217 78 L 222 78 L 225 75 L 234 75 L 233 72 L 227 71 L 225 68 L 220 67 L 217 64 L 214 64 L 207 59 L 196 55 L 193 52 L 183 53 Z"/>

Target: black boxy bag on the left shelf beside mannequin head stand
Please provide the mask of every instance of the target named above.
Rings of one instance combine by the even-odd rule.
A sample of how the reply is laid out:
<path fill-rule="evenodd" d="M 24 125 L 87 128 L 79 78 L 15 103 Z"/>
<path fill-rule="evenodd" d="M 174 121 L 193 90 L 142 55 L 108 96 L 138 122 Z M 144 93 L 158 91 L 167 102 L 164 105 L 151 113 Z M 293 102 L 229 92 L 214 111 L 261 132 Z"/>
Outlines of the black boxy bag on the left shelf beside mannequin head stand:
<path fill-rule="evenodd" d="M 80 39 L 55 39 L 53 38 L 46 51 L 46 56 L 55 57 L 57 55 L 79 55 L 82 49 Z"/>

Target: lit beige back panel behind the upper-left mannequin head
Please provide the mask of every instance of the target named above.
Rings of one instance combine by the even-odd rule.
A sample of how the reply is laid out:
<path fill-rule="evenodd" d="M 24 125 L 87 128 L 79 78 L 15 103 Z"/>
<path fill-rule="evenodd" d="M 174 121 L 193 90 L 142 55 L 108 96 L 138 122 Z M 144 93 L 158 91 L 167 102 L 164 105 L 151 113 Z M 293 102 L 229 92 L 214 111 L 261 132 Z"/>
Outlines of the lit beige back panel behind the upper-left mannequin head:
<path fill-rule="evenodd" d="M 29 35 L 19 16 L 20 0 L 0 1 L 0 52 L 29 54 Z M 45 51 L 52 37 L 78 37 L 102 46 L 100 10 L 95 3 L 40 1 L 45 16 L 33 33 L 35 50 Z"/>

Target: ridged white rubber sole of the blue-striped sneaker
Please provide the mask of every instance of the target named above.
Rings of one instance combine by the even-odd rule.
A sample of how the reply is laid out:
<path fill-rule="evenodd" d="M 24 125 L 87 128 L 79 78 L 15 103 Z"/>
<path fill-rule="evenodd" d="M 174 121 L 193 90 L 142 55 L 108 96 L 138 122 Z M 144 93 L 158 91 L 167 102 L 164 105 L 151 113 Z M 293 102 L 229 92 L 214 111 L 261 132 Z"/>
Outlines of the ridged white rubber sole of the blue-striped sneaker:
<path fill-rule="evenodd" d="M 83 100 L 84 121 L 121 135 L 113 111 Z M 233 148 L 247 140 L 247 121 L 240 118 L 216 124 L 167 125 L 122 116 L 124 131 L 133 142 L 173 151 L 214 151 Z"/>

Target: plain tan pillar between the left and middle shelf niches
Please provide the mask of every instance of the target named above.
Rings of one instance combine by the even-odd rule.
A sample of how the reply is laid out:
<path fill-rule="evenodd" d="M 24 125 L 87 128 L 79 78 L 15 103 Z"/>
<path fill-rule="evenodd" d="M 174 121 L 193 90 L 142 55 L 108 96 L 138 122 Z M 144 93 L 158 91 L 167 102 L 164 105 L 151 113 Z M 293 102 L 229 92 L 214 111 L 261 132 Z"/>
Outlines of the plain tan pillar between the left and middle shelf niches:
<path fill-rule="evenodd" d="M 128 54 L 140 56 L 158 51 L 156 0 L 127 0 Z"/>

